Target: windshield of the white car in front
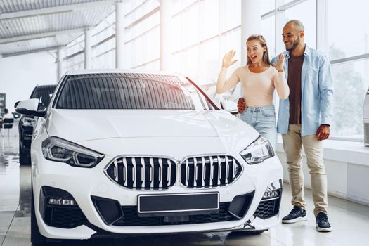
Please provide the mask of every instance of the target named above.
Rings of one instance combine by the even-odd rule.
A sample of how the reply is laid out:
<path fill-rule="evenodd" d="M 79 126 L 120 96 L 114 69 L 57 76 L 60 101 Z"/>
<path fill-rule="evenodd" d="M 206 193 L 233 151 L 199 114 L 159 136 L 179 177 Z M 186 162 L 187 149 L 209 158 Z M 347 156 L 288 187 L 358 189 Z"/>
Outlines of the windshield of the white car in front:
<path fill-rule="evenodd" d="M 145 74 L 70 75 L 60 89 L 56 108 L 213 109 L 211 103 L 190 82 L 183 82 L 176 76 Z"/>

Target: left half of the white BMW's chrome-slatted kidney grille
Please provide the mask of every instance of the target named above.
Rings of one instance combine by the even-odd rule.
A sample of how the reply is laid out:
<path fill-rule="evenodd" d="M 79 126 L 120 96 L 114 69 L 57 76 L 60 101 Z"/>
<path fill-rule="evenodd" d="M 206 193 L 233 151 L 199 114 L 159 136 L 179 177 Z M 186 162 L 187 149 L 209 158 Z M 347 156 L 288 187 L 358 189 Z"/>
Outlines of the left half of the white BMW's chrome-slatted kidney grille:
<path fill-rule="evenodd" d="M 127 188 L 165 189 L 176 182 L 176 163 L 159 157 L 118 157 L 105 173 Z"/>

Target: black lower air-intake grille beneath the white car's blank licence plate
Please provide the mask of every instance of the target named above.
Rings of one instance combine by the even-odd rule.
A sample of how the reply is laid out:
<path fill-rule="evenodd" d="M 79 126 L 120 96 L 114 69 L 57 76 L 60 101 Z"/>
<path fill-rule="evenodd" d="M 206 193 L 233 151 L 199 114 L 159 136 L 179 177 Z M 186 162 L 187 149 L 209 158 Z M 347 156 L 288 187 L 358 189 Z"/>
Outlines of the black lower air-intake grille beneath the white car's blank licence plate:
<path fill-rule="evenodd" d="M 162 226 L 174 224 L 202 224 L 214 223 L 222 221 L 237 220 L 234 216 L 228 213 L 228 207 L 231 202 L 221 202 L 219 204 L 219 212 L 214 214 L 197 214 L 189 215 L 188 221 L 168 222 L 164 216 L 157 217 L 139 217 L 136 206 L 122 206 L 123 216 L 118 221 L 115 221 L 114 226 Z"/>

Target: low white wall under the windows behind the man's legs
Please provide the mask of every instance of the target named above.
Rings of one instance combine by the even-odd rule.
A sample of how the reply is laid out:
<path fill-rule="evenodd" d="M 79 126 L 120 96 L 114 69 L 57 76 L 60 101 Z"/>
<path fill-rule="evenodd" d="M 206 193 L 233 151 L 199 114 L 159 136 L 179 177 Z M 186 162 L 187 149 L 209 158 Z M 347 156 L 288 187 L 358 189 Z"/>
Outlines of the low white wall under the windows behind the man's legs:
<path fill-rule="evenodd" d="M 327 173 L 328 194 L 338 198 L 369 205 L 369 148 L 360 142 L 325 141 L 324 164 Z M 288 172 L 282 143 L 276 153 L 283 166 L 283 179 L 288 182 Z M 304 183 L 311 188 L 309 169 L 303 153 Z M 329 200 L 328 200 L 329 203 Z"/>

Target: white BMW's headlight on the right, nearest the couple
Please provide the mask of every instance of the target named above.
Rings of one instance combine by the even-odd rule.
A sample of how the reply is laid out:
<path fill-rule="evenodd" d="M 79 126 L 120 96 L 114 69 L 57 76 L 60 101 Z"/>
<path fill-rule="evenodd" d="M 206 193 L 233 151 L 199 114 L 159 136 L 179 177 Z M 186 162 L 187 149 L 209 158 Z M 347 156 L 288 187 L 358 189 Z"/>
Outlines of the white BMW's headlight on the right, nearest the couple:
<path fill-rule="evenodd" d="M 266 138 L 259 136 L 257 140 L 242 150 L 240 155 L 248 164 L 257 164 L 273 157 L 274 150 Z"/>

